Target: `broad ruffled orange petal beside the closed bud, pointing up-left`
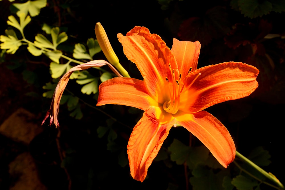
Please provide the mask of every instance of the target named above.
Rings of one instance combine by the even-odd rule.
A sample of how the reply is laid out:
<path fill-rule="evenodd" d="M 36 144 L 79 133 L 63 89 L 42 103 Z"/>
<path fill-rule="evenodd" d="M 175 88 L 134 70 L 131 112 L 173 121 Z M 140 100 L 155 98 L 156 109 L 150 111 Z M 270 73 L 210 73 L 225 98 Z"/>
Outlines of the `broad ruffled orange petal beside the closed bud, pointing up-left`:
<path fill-rule="evenodd" d="M 176 60 L 171 50 L 160 36 L 150 34 L 144 27 L 135 26 L 126 36 L 118 34 L 117 37 L 123 45 L 124 54 L 137 65 L 141 72 L 149 95 L 160 103 L 164 103 L 162 92 L 165 91 L 165 77 L 172 79 L 169 64 L 178 77 Z"/>

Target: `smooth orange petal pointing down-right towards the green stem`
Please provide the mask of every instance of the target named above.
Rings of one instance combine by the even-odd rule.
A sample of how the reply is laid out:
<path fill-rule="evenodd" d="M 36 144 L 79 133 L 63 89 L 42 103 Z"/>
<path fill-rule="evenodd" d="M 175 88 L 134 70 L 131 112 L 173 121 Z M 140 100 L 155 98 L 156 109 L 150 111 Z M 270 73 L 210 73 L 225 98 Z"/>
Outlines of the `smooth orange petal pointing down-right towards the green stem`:
<path fill-rule="evenodd" d="M 177 123 L 196 136 L 219 161 L 227 166 L 235 159 L 235 144 L 229 131 L 213 115 L 206 111 L 194 114 L 183 112 L 175 115 Z"/>

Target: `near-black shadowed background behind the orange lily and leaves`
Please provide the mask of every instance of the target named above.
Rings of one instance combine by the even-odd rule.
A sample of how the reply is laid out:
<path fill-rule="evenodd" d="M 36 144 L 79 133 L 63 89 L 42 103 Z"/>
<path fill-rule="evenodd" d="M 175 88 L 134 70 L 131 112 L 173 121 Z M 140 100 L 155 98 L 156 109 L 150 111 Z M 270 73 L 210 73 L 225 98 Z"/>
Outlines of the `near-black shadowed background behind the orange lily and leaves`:
<path fill-rule="evenodd" d="M 260 70 L 257 78 L 259 87 L 252 95 L 215 105 L 207 111 L 228 128 L 241 154 L 248 156 L 258 146 L 267 150 L 272 163 L 263 168 L 276 175 L 284 184 L 282 152 L 285 46 L 283 38 L 264 39 L 269 33 L 284 35 L 284 12 L 271 11 L 249 18 L 241 14 L 241 10 L 233 9 L 231 3 L 232 1 L 226 0 L 210 3 L 174 0 L 163 8 L 166 10 L 162 10 L 162 5 L 155 0 L 48 1 L 47 7 L 41 10 L 40 15 L 32 18 L 24 32 L 26 38 L 33 41 L 34 36 L 42 32 L 42 23 L 60 26 L 70 35 L 65 43 L 72 46 L 79 42 L 85 43 L 87 38 L 95 38 L 95 23 L 100 22 L 121 64 L 135 78 L 141 76 L 135 65 L 124 56 L 123 48 L 116 37 L 117 33 L 125 35 L 134 26 L 147 27 L 151 33 L 160 35 L 169 47 L 172 46 L 173 38 L 199 40 L 202 47 L 198 68 L 226 61 L 240 61 L 256 66 Z M 8 27 L 6 21 L 11 14 L 11 4 L 6 0 L 0 1 L 2 35 Z M 253 47 L 257 47 L 256 53 L 253 52 Z M 72 49 L 71 52 L 68 52 L 68 48 L 64 50 L 67 55 L 72 55 Z M 272 62 L 268 61 L 266 55 Z M 105 59 L 102 52 L 94 58 Z M 14 68 L 15 62 L 21 65 Z M 49 64 L 48 58 L 33 57 L 25 48 L 20 48 L 13 55 L 6 54 L 0 64 L 0 123 L 19 108 L 24 108 L 34 115 L 29 122 L 42 129 L 28 145 L 0 134 L 0 189 L 9 189 L 16 183 L 17 176 L 9 174 L 8 165 L 23 152 L 32 155 L 36 161 L 38 176 L 48 189 L 68 189 L 68 176 L 63 168 L 69 173 L 72 189 L 167 189 L 168 183 L 185 189 L 183 166 L 169 168 L 162 161 L 152 163 L 148 171 L 150 177 L 143 183 L 132 179 L 128 165 L 121 167 L 118 164 L 119 152 L 107 150 L 107 137 L 98 138 L 97 127 L 105 126 L 109 117 L 88 106 L 95 106 L 96 99 L 93 95 L 80 93 L 80 86 L 75 82 L 71 81 L 67 89 L 84 100 L 80 101 L 83 118 L 76 120 L 70 117 L 66 105 L 63 105 L 59 113 L 60 129 L 47 124 L 40 126 L 51 103 L 51 99 L 41 96 L 45 92 L 42 86 L 52 81 Z M 29 82 L 23 79 L 25 70 L 36 73 L 36 80 Z M 98 74 L 96 71 L 94 73 Z M 119 105 L 106 105 L 99 109 L 119 121 L 112 127 L 118 135 L 117 145 L 126 153 L 131 128 L 135 126 L 142 112 L 129 114 L 128 107 Z M 56 138 L 59 130 L 60 137 Z M 170 146 L 174 138 L 185 144 L 189 142 L 189 134 L 184 128 L 173 128 L 163 147 Z M 66 158 L 62 166 L 56 139 Z M 194 144 L 199 145 L 199 141 L 196 140 Z M 265 186 L 264 189 L 266 188 Z"/>

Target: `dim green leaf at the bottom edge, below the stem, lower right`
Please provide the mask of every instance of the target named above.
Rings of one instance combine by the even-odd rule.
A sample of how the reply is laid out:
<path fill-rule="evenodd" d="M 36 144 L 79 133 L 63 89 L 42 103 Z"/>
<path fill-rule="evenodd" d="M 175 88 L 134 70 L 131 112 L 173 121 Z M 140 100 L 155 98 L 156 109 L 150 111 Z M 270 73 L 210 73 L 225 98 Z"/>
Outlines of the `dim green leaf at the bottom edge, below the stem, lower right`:
<path fill-rule="evenodd" d="M 231 182 L 238 190 L 252 190 L 253 187 L 258 185 L 256 180 L 248 179 L 243 175 L 238 175 L 237 177 L 233 178 Z"/>

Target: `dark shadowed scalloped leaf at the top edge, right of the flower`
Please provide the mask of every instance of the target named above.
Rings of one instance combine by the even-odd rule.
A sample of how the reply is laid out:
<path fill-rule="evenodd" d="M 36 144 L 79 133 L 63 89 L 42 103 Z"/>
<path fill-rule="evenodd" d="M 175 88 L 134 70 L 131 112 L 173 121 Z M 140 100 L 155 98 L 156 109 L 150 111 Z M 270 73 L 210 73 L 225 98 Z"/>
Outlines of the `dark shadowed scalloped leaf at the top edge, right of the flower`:
<path fill-rule="evenodd" d="M 269 1 L 239 0 L 238 5 L 241 9 L 241 14 L 251 19 L 267 15 L 272 11 L 272 4 Z"/>

